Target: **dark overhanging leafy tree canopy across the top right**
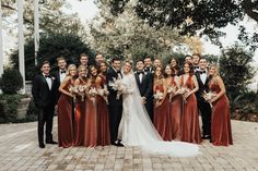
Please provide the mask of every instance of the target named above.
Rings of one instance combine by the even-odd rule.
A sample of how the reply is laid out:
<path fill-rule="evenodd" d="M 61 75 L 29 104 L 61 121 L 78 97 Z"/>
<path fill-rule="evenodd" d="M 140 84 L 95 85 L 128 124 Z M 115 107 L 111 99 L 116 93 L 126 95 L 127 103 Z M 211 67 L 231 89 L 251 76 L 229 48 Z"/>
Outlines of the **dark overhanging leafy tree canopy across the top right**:
<path fill-rule="evenodd" d="M 98 0 L 104 2 L 105 0 Z M 257 0 L 109 0 L 110 12 L 118 15 L 128 2 L 134 1 L 134 11 L 145 23 L 159 29 L 169 26 L 181 35 L 207 35 L 216 45 L 224 33 L 219 28 L 235 25 L 245 15 L 258 22 Z M 244 33 L 244 32 L 242 32 Z M 241 35 L 246 37 L 245 35 Z M 257 40 L 257 34 L 248 38 Z M 256 47 L 257 47 L 256 41 Z M 254 47 L 253 47 L 254 49 Z"/>

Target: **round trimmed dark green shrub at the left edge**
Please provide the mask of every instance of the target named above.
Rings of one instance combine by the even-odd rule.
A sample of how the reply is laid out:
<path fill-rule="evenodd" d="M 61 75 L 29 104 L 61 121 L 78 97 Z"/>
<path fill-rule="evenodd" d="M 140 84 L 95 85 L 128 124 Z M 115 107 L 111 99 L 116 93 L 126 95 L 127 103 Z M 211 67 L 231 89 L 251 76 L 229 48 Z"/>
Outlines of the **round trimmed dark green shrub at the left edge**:
<path fill-rule="evenodd" d="M 16 91 L 23 87 L 21 73 L 14 69 L 5 69 L 2 74 L 0 86 L 3 94 L 16 94 Z"/>

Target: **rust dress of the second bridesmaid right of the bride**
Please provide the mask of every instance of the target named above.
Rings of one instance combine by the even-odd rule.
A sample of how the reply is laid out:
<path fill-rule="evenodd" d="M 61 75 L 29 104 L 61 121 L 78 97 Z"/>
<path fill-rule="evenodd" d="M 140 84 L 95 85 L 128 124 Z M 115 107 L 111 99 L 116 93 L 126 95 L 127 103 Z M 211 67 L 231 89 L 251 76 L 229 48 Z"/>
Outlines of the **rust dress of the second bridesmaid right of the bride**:
<path fill-rule="evenodd" d="M 175 76 L 172 77 L 171 86 L 175 87 Z M 172 139 L 179 141 L 181 137 L 181 96 L 176 95 L 169 102 Z"/>

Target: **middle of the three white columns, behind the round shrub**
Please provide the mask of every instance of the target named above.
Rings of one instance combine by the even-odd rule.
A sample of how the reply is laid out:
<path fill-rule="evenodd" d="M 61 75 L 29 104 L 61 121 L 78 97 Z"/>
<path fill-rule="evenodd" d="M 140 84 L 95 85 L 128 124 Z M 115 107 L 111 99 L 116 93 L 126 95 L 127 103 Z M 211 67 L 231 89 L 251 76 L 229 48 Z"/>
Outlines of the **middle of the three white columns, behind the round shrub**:
<path fill-rule="evenodd" d="M 17 0 L 19 23 L 19 70 L 23 77 L 22 94 L 25 94 L 25 61 L 24 61 L 24 36 L 23 36 L 23 0 Z"/>

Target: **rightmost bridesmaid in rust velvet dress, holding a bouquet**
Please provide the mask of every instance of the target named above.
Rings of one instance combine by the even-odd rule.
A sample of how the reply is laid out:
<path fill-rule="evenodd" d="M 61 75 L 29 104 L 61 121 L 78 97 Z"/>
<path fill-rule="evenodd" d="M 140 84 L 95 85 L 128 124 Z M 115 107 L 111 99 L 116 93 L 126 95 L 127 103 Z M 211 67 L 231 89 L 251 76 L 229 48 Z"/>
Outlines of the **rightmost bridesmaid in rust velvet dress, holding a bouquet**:
<path fill-rule="evenodd" d="M 224 83 L 219 76 L 218 66 L 210 68 L 209 87 L 214 96 L 209 100 L 212 102 L 212 119 L 211 119 L 211 142 L 215 146 L 233 145 L 232 129 L 231 129 L 231 111 L 228 99 L 225 95 Z"/>

